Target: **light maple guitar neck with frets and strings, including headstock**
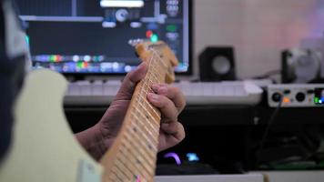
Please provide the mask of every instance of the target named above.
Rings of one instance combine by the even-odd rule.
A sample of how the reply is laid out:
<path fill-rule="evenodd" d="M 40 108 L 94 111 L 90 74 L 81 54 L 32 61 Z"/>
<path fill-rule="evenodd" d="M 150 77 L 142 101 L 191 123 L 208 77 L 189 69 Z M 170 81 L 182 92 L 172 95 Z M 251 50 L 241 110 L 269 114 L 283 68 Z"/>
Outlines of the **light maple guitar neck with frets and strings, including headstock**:
<path fill-rule="evenodd" d="M 153 181 L 161 113 L 147 101 L 151 86 L 172 83 L 177 58 L 163 42 L 136 45 L 137 55 L 147 64 L 147 75 L 132 96 L 127 115 L 114 145 L 102 158 L 103 181 Z"/>

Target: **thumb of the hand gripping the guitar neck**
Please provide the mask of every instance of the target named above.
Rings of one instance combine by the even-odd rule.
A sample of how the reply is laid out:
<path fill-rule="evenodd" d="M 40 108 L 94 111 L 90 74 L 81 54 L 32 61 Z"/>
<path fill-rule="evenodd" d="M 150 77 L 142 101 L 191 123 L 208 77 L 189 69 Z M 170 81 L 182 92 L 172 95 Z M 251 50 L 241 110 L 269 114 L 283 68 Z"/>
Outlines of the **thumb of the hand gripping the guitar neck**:
<path fill-rule="evenodd" d="M 145 63 L 140 64 L 137 68 L 129 72 L 120 86 L 115 100 L 130 100 L 133 96 L 135 86 L 137 83 L 147 75 L 147 65 Z"/>

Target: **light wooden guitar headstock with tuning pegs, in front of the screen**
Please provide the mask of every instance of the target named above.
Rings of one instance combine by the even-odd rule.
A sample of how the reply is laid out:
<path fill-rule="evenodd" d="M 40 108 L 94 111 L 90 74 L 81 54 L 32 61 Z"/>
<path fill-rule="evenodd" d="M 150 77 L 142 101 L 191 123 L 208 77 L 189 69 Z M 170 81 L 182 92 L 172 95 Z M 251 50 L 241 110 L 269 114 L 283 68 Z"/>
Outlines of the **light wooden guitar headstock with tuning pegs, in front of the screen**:
<path fill-rule="evenodd" d="M 152 43 L 149 41 L 135 41 L 133 44 L 136 48 L 137 55 L 142 61 L 148 61 L 151 57 L 156 57 L 157 61 L 164 62 L 163 65 L 167 69 L 166 82 L 172 83 L 175 81 L 174 67 L 177 66 L 177 57 L 169 46 L 163 41 Z M 157 67 L 163 68 L 163 67 Z"/>

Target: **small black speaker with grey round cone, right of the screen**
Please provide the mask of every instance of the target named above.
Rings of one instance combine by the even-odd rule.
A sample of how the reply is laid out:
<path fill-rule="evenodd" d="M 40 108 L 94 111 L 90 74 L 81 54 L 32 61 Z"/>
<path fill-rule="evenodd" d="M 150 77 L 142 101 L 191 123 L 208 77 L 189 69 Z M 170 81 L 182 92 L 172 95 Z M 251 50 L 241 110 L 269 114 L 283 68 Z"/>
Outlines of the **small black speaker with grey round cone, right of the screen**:
<path fill-rule="evenodd" d="M 208 46 L 199 55 L 201 81 L 235 80 L 234 48 Z"/>

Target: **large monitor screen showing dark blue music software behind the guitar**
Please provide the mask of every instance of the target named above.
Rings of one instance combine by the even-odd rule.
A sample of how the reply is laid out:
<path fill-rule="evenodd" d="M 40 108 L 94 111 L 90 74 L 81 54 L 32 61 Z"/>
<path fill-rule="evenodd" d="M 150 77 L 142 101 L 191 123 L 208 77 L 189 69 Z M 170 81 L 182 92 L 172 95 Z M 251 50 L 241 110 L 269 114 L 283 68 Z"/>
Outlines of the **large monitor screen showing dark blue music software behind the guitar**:
<path fill-rule="evenodd" d="M 140 63 L 134 39 L 163 40 L 176 73 L 191 73 L 191 0 L 16 0 L 33 67 L 66 75 L 126 74 Z"/>

